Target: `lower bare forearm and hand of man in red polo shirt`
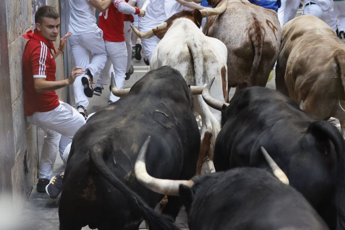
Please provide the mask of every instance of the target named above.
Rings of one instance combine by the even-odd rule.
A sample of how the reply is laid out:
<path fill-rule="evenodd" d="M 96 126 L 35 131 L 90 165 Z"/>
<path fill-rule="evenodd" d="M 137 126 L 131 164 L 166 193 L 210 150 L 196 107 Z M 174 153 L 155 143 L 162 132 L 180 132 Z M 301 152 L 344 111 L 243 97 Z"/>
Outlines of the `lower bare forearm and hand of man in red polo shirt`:
<path fill-rule="evenodd" d="M 33 86 L 37 93 L 48 92 L 52 90 L 61 89 L 65 86 L 73 84 L 76 77 L 80 76 L 85 70 L 81 67 L 73 68 L 68 79 L 61 81 L 46 81 L 46 78 L 33 78 Z"/>

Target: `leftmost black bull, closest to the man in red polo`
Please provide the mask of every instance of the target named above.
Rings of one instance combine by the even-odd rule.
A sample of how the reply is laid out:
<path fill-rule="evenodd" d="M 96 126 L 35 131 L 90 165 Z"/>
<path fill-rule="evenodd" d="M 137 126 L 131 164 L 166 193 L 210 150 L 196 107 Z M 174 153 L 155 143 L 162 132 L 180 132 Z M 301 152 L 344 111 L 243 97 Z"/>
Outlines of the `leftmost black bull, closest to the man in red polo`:
<path fill-rule="evenodd" d="M 80 230 L 87 224 L 99 230 L 132 230 L 143 218 L 150 229 L 170 229 L 164 224 L 155 228 L 158 214 L 145 202 L 155 207 L 162 195 L 138 183 L 134 163 L 151 136 L 148 172 L 165 179 L 192 178 L 200 148 L 192 106 L 181 74 L 162 67 L 91 117 L 73 138 L 59 205 L 60 230 Z M 181 205 L 178 197 L 169 197 L 163 213 L 176 217 Z"/>

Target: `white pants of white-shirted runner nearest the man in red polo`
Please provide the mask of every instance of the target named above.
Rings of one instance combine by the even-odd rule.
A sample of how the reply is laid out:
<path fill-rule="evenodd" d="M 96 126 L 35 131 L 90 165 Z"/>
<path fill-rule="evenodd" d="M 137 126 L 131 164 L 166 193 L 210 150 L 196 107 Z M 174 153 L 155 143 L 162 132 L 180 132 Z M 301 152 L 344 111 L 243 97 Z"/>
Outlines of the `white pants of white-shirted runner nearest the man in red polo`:
<path fill-rule="evenodd" d="M 90 70 L 92 76 L 98 74 L 107 61 L 107 51 L 103 40 L 103 31 L 97 29 L 94 33 L 85 33 L 77 36 L 70 36 L 68 41 L 71 46 L 72 56 L 76 66 L 85 70 Z M 90 63 L 89 52 L 92 60 Z M 81 83 L 82 76 L 76 78 L 73 83 L 76 106 L 83 106 L 85 109 L 89 106 L 89 100 L 84 93 L 84 87 Z"/>

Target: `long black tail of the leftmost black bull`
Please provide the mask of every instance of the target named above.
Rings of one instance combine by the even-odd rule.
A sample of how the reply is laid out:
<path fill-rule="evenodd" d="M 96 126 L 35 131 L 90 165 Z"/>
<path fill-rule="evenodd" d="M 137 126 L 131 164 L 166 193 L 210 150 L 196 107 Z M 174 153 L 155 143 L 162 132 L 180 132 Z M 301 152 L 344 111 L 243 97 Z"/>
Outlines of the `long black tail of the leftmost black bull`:
<path fill-rule="evenodd" d="M 137 206 L 140 210 L 144 219 L 148 222 L 149 228 L 152 230 L 161 230 L 161 229 L 168 229 L 168 230 L 178 230 L 174 224 L 174 220 L 162 214 L 155 212 L 151 209 L 146 202 L 138 196 L 135 192 L 129 189 L 125 183 L 119 180 L 114 173 L 112 173 L 109 168 L 107 167 L 106 163 L 103 160 L 104 144 L 102 145 L 101 142 L 95 144 L 90 149 L 90 159 L 95 164 L 96 169 L 100 173 L 100 175 L 106 179 L 112 186 L 120 190 L 125 196 L 128 196 L 133 199 L 133 204 Z"/>

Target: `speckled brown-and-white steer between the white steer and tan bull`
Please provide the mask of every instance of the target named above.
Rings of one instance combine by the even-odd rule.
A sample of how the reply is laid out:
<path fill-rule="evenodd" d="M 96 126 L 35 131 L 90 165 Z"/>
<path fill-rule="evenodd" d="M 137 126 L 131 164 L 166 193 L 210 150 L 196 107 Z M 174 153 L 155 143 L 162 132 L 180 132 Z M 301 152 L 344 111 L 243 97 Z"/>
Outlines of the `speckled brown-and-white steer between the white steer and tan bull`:
<path fill-rule="evenodd" d="M 223 1 L 208 0 L 213 7 Z M 229 0 L 223 14 L 209 17 L 204 33 L 228 49 L 228 87 L 236 87 L 238 92 L 266 86 L 280 48 L 281 29 L 274 10 L 247 0 Z"/>

